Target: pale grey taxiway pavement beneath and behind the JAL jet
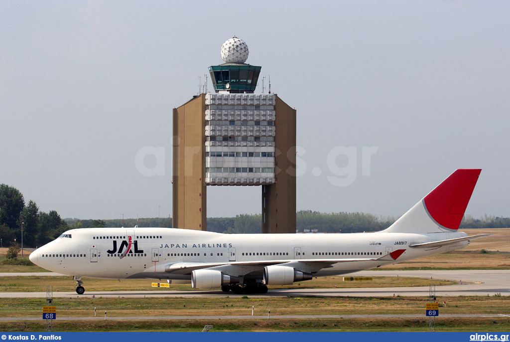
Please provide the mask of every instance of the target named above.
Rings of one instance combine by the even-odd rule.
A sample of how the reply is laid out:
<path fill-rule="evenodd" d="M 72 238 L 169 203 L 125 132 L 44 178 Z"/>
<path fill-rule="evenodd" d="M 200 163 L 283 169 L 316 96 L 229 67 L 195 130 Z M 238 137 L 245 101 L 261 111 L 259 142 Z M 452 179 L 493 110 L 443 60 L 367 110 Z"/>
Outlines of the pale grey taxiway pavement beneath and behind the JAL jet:
<path fill-rule="evenodd" d="M 0 273 L 0 277 L 9 276 L 59 276 L 58 273 Z M 457 282 L 455 285 L 436 286 L 436 297 L 454 296 L 510 296 L 510 272 L 507 270 L 454 270 L 454 271 L 363 271 L 352 275 L 356 277 L 418 277 L 432 279 L 447 279 Z M 71 281 L 71 280 L 70 280 Z M 147 286 L 150 286 L 147 279 Z M 233 292 L 219 290 L 162 290 L 152 289 L 144 291 L 87 291 L 85 294 L 76 292 L 53 292 L 56 298 L 149 298 L 149 297 L 235 297 Z M 270 289 L 264 295 L 250 295 L 257 297 L 421 297 L 429 295 L 428 286 L 415 287 L 370 287 L 370 288 L 294 288 Z M 46 292 L 0 292 L 0 298 L 45 298 Z"/>

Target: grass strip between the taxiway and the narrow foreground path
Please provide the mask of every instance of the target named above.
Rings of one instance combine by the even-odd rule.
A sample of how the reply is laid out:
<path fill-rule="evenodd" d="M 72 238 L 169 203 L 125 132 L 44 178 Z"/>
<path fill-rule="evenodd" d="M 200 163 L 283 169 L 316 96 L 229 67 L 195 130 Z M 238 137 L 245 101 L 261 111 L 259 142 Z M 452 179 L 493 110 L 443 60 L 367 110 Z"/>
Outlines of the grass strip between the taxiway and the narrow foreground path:
<path fill-rule="evenodd" d="M 108 317 L 124 316 L 248 316 L 254 306 L 256 315 L 352 315 L 425 314 L 424 297 L 214 297 L 214 298 L 54 298 L 58 317 L 93 317 L 108 312 Z M 441 314 L 506 313 L 510 297 L 452 297 Z M 439 299 L 442 303 L 442 300 Z M 45 298 L 3 298 L 0 317 L 39 317 Z"/>

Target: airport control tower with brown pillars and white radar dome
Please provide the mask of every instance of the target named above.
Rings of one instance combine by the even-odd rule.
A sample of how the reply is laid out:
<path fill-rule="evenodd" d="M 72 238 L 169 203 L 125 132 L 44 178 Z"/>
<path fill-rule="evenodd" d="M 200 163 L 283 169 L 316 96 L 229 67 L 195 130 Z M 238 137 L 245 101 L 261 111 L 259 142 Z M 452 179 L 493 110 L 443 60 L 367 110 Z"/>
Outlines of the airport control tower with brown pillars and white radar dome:
<path fill-rule="evenodd" d="M 246 43 L 221 46 L 209 67 L 214 93 L 173 110 L 173 227 L 207 230 L 208 186 L 261 186 L 262 232 L 296 231 L 296 111 L 254 93 L 260 66 Z M 228 206 L 228 200 L 224 200 Z"/>

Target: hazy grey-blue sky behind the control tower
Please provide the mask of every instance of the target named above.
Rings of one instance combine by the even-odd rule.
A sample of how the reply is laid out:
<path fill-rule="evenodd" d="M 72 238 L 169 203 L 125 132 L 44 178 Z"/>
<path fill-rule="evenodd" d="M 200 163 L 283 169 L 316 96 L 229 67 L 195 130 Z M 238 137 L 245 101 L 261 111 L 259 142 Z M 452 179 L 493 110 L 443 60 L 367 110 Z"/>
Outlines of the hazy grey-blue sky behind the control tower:
<path fill-rule="evenodd" d="M 2 0 L 0 183 L 62 217 L 168 217 L 172 108 L 236 35 L 297 110 L 297 210 L 398 216 L 482 168 L 467 213 L 510 216 L 509 14 L 506 1 Z M 137 167 L 147 146 L 164 158 Z M 208 216 L 260 213 L 260 199 L 209 187 Z"/>

